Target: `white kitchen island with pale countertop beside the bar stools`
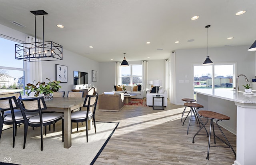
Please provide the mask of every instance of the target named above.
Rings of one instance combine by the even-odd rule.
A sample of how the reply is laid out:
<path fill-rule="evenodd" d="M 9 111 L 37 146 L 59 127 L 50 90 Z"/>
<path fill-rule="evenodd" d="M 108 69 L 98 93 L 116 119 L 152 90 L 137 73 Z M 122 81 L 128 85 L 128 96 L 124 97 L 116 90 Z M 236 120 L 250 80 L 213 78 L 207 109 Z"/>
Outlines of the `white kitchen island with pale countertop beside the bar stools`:
<path fill-rule="evenodd" d="M 195 89 L 197 103 L 204 109 L 230 117 L 220 125 L 236 135 L 235 165 L 256 164 L 256 93 L 236 92 L 230 88 Z"/>

